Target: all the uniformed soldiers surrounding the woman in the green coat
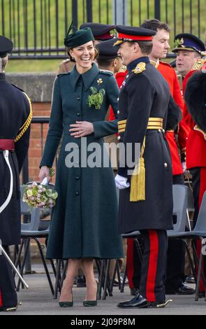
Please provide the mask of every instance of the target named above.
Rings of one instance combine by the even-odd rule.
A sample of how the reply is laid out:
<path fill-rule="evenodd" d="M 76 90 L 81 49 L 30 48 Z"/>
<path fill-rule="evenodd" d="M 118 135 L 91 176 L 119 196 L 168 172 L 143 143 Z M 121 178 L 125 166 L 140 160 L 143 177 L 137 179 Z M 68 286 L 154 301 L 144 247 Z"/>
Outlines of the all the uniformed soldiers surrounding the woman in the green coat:
<path fill-rule="evenodd" d="M 191 174 L 195 203 L 193 226 L 206 190 L 205 44 L 193 34 L 175 36 L 172 49 L 177 55 L 175 69 L 163 61 L 170 49 L 170 28 L 166 23 L 153 19 L 146 20 L 140 27 L 98 23 L 85 23 L 80 27 L 87 28 L 91 29 L 98 49 L 96 65 L 112 72 L 120 88 L 119 133 L 112 134 L 107 141 L 138 142 L 141 146 L 137 175 L 129 175 L 127 167 L 114 168 L 119 188 L 119 233 L 140 230 L 144 237 L 142 260 L 134 239 L 124 240 L 133 298 L 117 306 L 164 307 L 165 293 L 195 293 L 184 282 L 190 275 L 185 273 L 184 244 L 179 240 L 168 242 L 166 230 L 172 229 L 175 221 L 172 184 L 184 185 L 185 176 Z M 32 116 L 27 94 L 6 81 L 4 71 L 12 48 L 11 41 L 0 36 L 0 178 L 3 182 L 0 239 L 4 248 L 20 243 L 19 174 L 29 148 Z M 59 74 L 71 72 L 73 66 L 71 59 L 66 59 L 59 65 Z M 106 120 L 115 119 L 110 107 Z M 126 153 L 119 156 L 121 163 Z M 201 243 L 196 244 L 200 255 Z M 124 258 L 119 259 L 119 265 L 123 262 Z M 15 310 L 17 295 L 13 274 L 3 255 L 0 255 L 0 264 L 0 310 Z M 206 273 L 205 263 L 203 269 Z M 204 294 L 201 280 L 200 297 Z"/>

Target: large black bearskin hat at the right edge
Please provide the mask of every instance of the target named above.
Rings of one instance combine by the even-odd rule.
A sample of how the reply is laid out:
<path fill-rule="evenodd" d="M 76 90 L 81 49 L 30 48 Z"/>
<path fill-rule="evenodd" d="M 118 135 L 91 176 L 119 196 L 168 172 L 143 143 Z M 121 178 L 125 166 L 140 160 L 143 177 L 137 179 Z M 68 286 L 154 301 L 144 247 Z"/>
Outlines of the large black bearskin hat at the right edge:
<path fill-rule="evenodd" d="M 186 83 L 184 99 L 196 125 L 206 131 L 206 73 L 193 73 Z"/>

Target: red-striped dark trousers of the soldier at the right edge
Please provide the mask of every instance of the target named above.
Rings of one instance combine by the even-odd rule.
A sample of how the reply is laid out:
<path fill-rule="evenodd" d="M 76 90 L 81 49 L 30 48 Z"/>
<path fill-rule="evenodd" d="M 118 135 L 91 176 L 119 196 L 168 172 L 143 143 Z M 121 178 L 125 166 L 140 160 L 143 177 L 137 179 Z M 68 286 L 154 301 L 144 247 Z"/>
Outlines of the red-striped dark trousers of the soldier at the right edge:
<path fill-rule="evenodd" d="M 206 167 L 196 167 L 189 170 L 191 175 L 193 176 L 193 197 L 194 197 L 194 206 L 195 206 L 195 214 L 194 214 L 194 225 L 196 225 L 197 219 L 198 219 L 198 213 L 200 209 L 201 202 L 203 200 L 203 195 L 206 190 Z M 196 241 L 196 249 L 198 253 L 198 257 L 200 257 L 201 252 L 201 241 Z M 198 272 L 198 268 L 196 268 L 196 271 Z M 203 259 L 203 271 L 205 273 L 206 277 L 206 262 L 205 259 Z M 200 279 L 200 291 L 205 291 L 205 284 L 203 282 L 203 279 L 201 277 Z"/>

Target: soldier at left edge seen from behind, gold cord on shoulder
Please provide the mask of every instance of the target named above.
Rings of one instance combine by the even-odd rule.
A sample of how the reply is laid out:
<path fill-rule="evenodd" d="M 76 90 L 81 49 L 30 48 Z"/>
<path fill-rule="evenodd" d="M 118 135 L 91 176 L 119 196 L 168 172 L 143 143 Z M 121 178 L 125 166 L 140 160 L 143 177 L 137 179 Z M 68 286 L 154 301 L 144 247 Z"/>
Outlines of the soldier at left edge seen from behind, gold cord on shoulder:
<path fill-rule="evenodd" d="M 0 36 L 0 240 L 3 247 L 20 244 L 19 174 L 29 148 L 32 118 L 27 94 L 6 80 L 13 43 Z M 0 255 L 0 311 L 15 311 L 17 294 L 8 261 Z"/>

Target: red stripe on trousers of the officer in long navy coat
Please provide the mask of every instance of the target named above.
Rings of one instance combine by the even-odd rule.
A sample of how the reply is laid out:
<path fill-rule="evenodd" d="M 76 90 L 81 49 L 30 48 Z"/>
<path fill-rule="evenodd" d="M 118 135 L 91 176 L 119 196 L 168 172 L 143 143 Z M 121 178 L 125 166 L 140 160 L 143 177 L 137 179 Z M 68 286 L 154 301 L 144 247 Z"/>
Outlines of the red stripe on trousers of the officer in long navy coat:
<path fill-rule="evenodd" d="M 148 230 L 149 235 L 149 266 L 147 274 L 147 288 L 146 296 L 149 302 L 156 302 L 155 297 L 155 281 L 156 281 L 156 269 L 159 254 L 159 239 L 156 230 Z"/>

